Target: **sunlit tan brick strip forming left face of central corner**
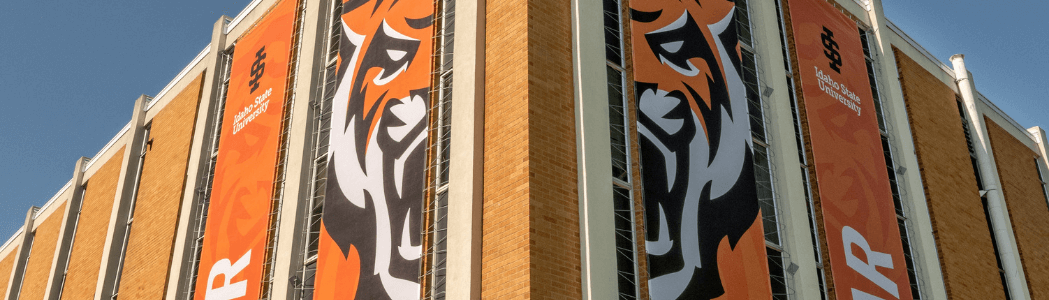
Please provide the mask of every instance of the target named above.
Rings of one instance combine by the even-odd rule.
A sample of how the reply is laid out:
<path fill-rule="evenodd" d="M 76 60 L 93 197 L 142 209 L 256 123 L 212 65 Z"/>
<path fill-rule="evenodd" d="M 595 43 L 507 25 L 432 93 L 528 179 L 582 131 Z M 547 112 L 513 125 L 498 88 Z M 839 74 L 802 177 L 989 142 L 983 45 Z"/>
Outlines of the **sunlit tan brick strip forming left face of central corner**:
<path fill-rule="evenodd" d="M 527 1 L 486 6 L 483 299 L 531 297 Z"/>

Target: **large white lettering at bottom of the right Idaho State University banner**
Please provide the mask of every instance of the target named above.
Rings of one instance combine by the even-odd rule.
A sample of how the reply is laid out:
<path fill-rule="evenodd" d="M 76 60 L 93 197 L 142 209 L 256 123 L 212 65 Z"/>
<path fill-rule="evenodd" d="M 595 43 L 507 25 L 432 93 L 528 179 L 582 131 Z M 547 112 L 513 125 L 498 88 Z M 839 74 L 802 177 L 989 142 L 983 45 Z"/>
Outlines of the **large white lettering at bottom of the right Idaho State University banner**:
<path fill-rule="evenodd" d="M 885 275 L 879 273 L 877 270 L 878 266 L 893 269 L 893 256 L 871 250 L 871 244 L 866 242 L 866 238 L 851 227 L 841 229 L 841 242 L 845 248 L 845 262 L 849 264 L 849 267 L 866 277 L 868 280 L 877 284 L 881 290 L 893 294 L 896 299 L 900 298 L 900 291 L 897 288 L 896 282 L 893 282 L 893 280 L 890 280 L 889 277 L 885 277 Z M 853 244 L 863 250 L 866 262 L 863 262 L 862 259 L 853 254 Z M 855 295 L 855 292 L 853 292 L 853 295 Z"/>

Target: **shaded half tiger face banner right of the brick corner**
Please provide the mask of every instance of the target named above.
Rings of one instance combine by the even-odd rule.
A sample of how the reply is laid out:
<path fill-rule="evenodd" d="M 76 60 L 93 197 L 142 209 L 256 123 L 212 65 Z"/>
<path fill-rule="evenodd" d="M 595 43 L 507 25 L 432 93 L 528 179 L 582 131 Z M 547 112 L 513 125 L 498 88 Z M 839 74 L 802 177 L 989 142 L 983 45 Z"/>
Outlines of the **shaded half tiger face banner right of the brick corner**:
<path fill-rule="evenodd" d="M 649 297 L 770 299 L 735 4 L 630 9 Z"/>

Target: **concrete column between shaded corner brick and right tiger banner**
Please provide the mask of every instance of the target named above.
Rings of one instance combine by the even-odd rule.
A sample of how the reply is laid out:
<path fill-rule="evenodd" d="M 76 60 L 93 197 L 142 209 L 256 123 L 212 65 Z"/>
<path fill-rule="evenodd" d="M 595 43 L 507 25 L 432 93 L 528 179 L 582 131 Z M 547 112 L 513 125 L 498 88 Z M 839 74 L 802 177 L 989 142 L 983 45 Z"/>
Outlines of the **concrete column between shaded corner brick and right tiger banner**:
<path fill-rule="evenodd" d="M 582 299 L 619 292 L 603 12 L 600 1 L 572 1 Z"/>

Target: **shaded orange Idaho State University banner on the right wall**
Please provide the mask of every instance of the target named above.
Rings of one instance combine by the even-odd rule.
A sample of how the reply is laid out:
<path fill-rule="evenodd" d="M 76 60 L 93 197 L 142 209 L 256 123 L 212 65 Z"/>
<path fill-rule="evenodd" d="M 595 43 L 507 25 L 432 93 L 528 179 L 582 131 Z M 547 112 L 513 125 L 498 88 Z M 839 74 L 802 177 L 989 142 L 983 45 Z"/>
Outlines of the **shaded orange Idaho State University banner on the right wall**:
<path fill-rule="evenodd" d="M 790 16 L 838 299 L 911 299 L 856 22 L 825 0 Z"/>

